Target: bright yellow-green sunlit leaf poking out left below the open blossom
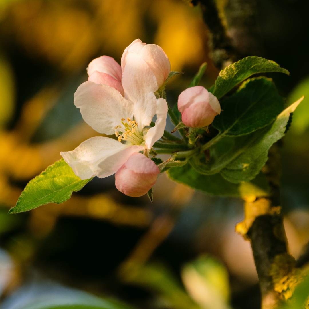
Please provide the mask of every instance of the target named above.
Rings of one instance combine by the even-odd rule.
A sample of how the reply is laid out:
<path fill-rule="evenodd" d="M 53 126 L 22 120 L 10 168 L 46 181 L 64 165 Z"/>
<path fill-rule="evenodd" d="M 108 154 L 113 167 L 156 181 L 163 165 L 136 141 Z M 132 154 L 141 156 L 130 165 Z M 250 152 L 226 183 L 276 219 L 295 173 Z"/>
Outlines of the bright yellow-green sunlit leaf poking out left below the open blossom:
<path fill-rule="evenodd" d="M 81 180 L 64 159 L 60 159 L 30 180 L 9 213 L 31 210 L 48 203 L 63 203 L 91 179 Z"/>

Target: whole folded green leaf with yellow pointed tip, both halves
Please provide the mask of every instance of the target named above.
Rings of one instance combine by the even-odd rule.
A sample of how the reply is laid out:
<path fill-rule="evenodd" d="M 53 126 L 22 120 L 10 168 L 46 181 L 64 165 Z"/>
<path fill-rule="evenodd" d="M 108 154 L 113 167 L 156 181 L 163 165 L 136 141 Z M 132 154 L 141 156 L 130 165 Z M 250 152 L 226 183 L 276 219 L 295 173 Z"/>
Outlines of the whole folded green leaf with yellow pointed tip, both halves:
<path fill-rule="evenodd" d="M 201 174 L 222 176 L 233 183 L 253 179 L 267 161 L 269 148 L 285 133 L 290 111 L 294 111 L 302 99 L 286 108 L 277 119 L 263 129 L 238 137 L 223 137 L 209 148 L 210 161 L 205 155 L 190 159 L 192 167 Z"/>

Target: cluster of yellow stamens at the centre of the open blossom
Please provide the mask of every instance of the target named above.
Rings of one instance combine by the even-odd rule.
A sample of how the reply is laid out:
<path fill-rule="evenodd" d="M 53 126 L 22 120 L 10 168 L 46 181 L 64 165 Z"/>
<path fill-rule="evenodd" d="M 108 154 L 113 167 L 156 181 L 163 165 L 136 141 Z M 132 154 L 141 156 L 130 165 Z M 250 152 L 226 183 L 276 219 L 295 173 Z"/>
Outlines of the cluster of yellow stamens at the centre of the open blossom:
<path fill-rule="evenodd" d="M 138 123 L 135 120 L 131 120 L 127 118 L 121 118 L 122 125 L 117 125 L 114 129 L 116 137 L 118 137 L 118 141 L 128 141 L 131 142 L 133 145 L 140 145 L 142 144 L 143 140 L 143 133 L 138 132 Z M 119 130 L 120 129 L 120 130 Z"/>

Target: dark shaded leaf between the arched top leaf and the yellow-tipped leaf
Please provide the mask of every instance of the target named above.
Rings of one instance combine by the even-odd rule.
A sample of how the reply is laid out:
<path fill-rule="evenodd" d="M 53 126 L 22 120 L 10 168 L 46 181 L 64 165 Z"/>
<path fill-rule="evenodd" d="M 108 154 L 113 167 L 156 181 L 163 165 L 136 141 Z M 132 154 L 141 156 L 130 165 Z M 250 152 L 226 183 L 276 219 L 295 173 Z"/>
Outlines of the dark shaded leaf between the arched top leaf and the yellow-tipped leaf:
<path fill-rule="evenodd" d="M 269 125 L 284 109 L 284 101 L 270 79 L 253 78 L 224 100 L 221 108 L 213 126 L 224 135 L 238 136 Z"/>

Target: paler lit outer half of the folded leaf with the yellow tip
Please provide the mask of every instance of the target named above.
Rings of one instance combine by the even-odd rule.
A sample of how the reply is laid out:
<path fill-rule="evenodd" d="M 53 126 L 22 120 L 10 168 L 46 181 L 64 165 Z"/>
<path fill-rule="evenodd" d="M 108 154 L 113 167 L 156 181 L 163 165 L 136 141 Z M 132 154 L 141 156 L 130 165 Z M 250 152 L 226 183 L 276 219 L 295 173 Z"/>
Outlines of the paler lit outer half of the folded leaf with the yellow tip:
<path fill-rule="evenodd" d="M 228 181 L 239 183 L 253 179 L 267 161 L 269 148 L 282 138 L 290 113 L 294 112 L 303 97 L 281 112 L 276 121 L 252 135 L 252 141 L 236 159 L 226 165 L 221 175 Z"/>

